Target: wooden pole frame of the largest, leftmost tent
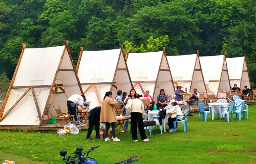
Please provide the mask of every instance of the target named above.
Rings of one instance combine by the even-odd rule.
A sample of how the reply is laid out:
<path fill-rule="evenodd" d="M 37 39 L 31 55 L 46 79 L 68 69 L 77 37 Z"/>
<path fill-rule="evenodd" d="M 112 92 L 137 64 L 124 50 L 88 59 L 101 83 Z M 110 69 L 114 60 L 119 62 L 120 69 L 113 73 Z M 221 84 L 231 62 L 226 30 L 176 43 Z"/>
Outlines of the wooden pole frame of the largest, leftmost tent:
<path fill-rule="evenodd" d="M 32 94 L 33 94 L 33 97 L 34 97 L 34 101 L 35 101 L 35 105 L 36 105 L 36 110 L 37 110 L 37 113 L 38 113 L 38 116 L 39 116 L 39 119 L 40 119 L 40 123 L 39 123 L 39 127 L 42 125 L 43 123 L 43 120 L 44 120 L 44 114 L 45 114 L 45 111 L 46 111 L 46 108 L 47 108 L 47 105 L 50 101 L 50 98 L 51 98 L 51 95 L 52 95 L 52 90 L 53 90 L 53 87 L 54 86 L 57 86 L 55 84 L 55 81 L 56 81 L 56 78 L 58 76 L 58 73 L 59 71 L 74 71 L 75 72 L 75 75 L 76 75 L 76 80 L 77 80 L 77 83 L 78 83 L 78 86 L 80 88 L 80 91 L 81 93 L 83 94 L 83 89 L 82 89 L 82 86 L 80 84 L 80 81 L 79 81 L 79 78 L 77 76 L 77 72 L 75 70 L 75 65 L 73 63 L 73 59 L 72 59 L 72 56 L 70 54 L 70 51 L 69 51 L 69 48 L 68 48 L 68 41 L 64 41 L 65 42 L 65 48 L 62 52 L 62 55 L 61 55 L 61 58 L 60 58 L 60 62 L 59 62 L 59 65 L 58 65 L 58 68 L 56 70 L 56 73 L 55 73 L 55 76 L 54 76 L 54 79 L 53 79 L 53 82 L 52 82 L 52 85 L 37 85 L 37 86 L 13 86 L 13 83 L 14 83 L 14 80 L 16 78 L 16 75 L 17 75 L 17 72 L 18 72 L 18 69 L 19 69 L 19 66 L 20 66 L 20 62 L 21 62 L 21 59 L 22 59 L 22 56 L 23 56 L 23 53 L 24 53 L 24 50 L 26 48 L 26 44 L 22 44 L 22 51 L 21 51 L 21 54 L 20 54 L 20 58 L 19 58 L 19 61 L 17 63 L 17 66 L 16 66 L 16 69 L 14 71 L 14 74 L 13 74 L 13 77 L 12 77 L 12 81 L 11 81 L 11 84 L 8 88 L 8 92 L 6 94 L 6 97 L 5 97 L 5 100 L 4 100 L 4 104 L 3 104 L 3 107 L 1 109 L 1 112 L 0 112 L 0 122 L 11 112 L 11 110 L 21 101 L 21 99 L 29 92 L 29 90 L 31 89 L 32 91 Z M 62 63 L 62 60 L 63 60 L 63 57 L 65 55 L 65 52 L 68 52 L 68 56 L 70 58 L 70 62 L 72 63 L 72 67 L 73 69 L 60 69 L 60 66 L 61 66 L 61 63 Z M 49 95 L 48 95 L 48 99 L 46 101 L 46 104 L 45 104 L 45 107 L 44 107 L 44 112 L 41 116 L 41 113 L 40 113 L 40 110 L 39 110 L 39 106 L 38 106 L 38 103 L 37 103 L 37 99 L 36 99 L 36 94 L 35 94 L 35 88 L 49 88 L 51 87 L 50 89 L 50 92 L 49 92 Z M 5 105 L 7 103 L 7 100 L 9 98 L 9 95 L 10 95 L 10 92 L 11 92 L 11 89 L 19 89 L 19 88 L 28 88 L 25 93 L 23 93 L 23 95 L 12 105 L 12 107 L 3 115 L 3 112 L 4 112 L 4 108 L 5 108 Z M 20 126 L 23 126 L 23 125 L 20 125 Z M 25 126 L 25 125 L 24 125 Z M 29 126 L 29 125 L 26 125 L 26 126 Z"/>

